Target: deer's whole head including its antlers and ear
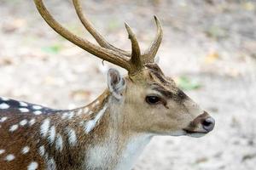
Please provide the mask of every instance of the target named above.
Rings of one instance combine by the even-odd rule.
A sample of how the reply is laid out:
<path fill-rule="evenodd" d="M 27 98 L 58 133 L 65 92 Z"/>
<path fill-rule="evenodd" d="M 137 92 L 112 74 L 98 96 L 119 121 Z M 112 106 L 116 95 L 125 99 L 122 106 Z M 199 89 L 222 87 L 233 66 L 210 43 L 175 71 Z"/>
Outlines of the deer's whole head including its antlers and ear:
<path fill-rule="evenodd" d="M 137 37 L 131 27 L 125 28 L 131 40 L 131 52 L 109 44 L 91 25 L 82 12 L 79 0 L 73 0 L 74 7 L 84 27 L 96 39 L 96 46 L 77 37 L 62 27 L 44 7 L 42 0 L 35 0 L 44 20 L 62 37 L 73 42 L 90 54 L 119 65 L 128 71 L 121 77 L 119 71 L 108 71 L 108 88 L 112 94 L 115 109 L 123 111 L 128 129 L 142 133 L 161 135 L 202 136 L 214 127 L 214 119 L 202 111 L 192 99 L 170 77 L 166 77 L 154 62 L 163 37 L 160 21 L 156 16 L 157 35 L 145 53 L 141 53 Z"/>

